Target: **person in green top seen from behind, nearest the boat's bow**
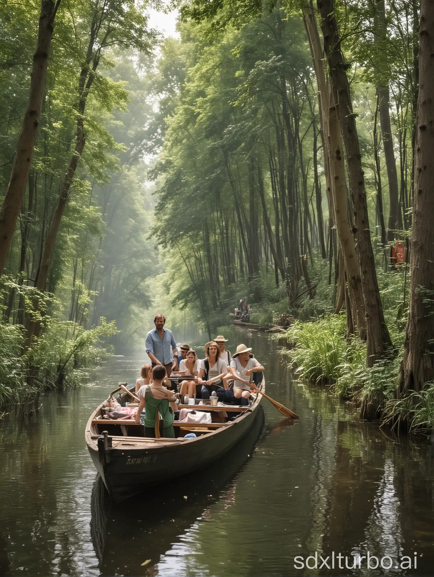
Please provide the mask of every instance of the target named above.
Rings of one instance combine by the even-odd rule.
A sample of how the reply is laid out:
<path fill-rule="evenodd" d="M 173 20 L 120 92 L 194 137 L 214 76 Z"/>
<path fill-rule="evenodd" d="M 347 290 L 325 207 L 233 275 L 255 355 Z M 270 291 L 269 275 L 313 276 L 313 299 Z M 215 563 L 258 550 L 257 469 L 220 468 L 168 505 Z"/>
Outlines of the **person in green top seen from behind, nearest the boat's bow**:
<path fill-rule="evenodd" d="M 178 407 L 172 391 L 163 387 L 165 376 L 165 366 L 161 364 L 154 366 L 152 383 L 143 385 L 137 392 L 140 403 L 135 414 L 135 423 L 137 425 L 140 423 L 140 415 L 145 409 L 145 437 L 155 438 L 157 436 L 156 430 L 160 431 L 163 428 L 163 434 L 160 432 L 160 436 L 175 438 L 175 430 L 173 430 L 175 415 L 173 413 L 178 410 Z M 163 424 L 160 421 L 160 414 L 163 417 Z"/>

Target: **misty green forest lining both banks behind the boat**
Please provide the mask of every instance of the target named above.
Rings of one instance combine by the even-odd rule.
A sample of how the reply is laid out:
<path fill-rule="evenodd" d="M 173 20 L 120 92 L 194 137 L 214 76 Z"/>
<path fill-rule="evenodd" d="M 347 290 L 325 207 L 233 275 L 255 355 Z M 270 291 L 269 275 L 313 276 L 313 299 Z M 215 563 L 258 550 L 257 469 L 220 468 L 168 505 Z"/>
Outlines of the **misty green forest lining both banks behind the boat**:
<path fill-rule="evenodd" d="M 101 345 L 140 349 L 154 312 L 211 338 L 246 296 L 252 321 L 291 325 L 300 377 L 430 429 L 433 267 L 409 266 L 433 250 L 433 201 L 413 206 L 419 3 L 178 6 L 165 39 L 141 2 L 0 6 L 1 403 Z"/>

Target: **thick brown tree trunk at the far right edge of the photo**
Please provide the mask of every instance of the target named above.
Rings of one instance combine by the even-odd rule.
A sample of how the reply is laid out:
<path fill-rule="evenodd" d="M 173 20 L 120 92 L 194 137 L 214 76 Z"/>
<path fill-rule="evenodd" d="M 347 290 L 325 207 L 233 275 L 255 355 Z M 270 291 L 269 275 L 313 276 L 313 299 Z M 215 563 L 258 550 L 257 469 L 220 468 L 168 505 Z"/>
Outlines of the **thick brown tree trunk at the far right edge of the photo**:
<path fill-rule="evenodd" d="M 434 0 L 421 0 L 410 312 L 399 389 L 434 381 Z"/>

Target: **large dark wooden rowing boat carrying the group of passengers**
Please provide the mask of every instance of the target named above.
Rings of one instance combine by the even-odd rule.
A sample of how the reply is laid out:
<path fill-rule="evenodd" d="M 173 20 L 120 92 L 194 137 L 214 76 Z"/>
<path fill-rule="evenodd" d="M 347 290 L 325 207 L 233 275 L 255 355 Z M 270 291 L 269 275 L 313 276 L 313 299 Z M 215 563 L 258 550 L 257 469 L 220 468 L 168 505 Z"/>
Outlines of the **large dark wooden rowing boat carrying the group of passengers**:
<path fill-rule="evenodd" d="M 258 388 L 265 392 L 264 379 Z M 126 396 L 126 392 L 120 395 L 120 402 Z M 219 403 L 217 407 L 203 405 L 199 409 L 197 405 L 197 410 L 226 411 L 229 416 L 225 422 L 211 424 L 175 421 L 176 439 L 150 439 L 144 436 L 143 425 L 100 419 L 103 407 L 100 404 L 86 425 L 86 444 L 111 499 L 122 501 L 148 486 L 203 469 L 224 455 L 246 436 L 258 416 L 261 400 L 262 395 L 258 395 L 249 407 Z M 184 406 L 180 405 L 179 408 Z M 235 419 L 228 421 L 231 415 Z M 184 439 L 184 434 L 191 430 L 194 430 L 197 438 Z"/>

